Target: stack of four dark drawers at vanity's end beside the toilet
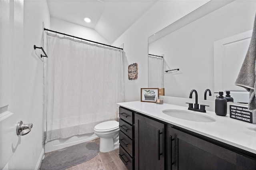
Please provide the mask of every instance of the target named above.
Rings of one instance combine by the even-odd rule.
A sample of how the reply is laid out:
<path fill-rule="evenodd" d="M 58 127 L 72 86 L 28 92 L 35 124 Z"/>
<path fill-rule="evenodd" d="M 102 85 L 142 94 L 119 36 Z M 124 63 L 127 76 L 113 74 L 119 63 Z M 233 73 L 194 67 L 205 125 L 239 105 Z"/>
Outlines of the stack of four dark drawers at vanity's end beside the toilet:
<path fill-rule="evenodd" d="M 134 169 L 134 111 L 119 107 L 119 157 L 128 170 Z"/>

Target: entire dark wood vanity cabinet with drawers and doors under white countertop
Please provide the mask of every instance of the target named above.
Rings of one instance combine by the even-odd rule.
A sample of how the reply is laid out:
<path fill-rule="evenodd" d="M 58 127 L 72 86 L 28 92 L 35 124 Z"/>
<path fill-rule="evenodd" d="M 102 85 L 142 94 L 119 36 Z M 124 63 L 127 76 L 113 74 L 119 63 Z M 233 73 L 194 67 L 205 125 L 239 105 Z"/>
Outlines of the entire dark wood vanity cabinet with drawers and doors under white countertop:
<path fill-rule="evenodd" d="M 120 159 L 128 170 L 256 170 L 256 154 L 136 111 L 119 111 Z"/>

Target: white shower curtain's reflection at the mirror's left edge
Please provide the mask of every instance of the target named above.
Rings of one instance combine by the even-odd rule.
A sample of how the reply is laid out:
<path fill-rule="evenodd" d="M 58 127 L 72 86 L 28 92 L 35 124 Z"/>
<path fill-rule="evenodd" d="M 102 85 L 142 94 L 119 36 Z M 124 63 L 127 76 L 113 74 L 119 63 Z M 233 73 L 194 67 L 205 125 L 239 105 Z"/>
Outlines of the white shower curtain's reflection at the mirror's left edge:
<path fill-rule="evenodd" d="M 148 55 L 148 87 L 164 88 L 164 59 Z"/>

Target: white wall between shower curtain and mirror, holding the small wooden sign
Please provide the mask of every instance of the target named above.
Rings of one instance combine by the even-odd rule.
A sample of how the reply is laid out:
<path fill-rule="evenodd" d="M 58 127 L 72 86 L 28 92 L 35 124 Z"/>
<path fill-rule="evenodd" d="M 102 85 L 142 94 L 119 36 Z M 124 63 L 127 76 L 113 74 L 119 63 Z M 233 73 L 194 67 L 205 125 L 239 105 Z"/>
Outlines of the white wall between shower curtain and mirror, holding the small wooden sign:
<path fill-rule="evenodd" d="M 125 100 L 140 100 L 140 88 L 148 87 L 148 37 L 208 1 L 158 1 L 112 45 L 124 43 Z M 128 65 L 138 63 L 138 79 L 128 80 Z"/>

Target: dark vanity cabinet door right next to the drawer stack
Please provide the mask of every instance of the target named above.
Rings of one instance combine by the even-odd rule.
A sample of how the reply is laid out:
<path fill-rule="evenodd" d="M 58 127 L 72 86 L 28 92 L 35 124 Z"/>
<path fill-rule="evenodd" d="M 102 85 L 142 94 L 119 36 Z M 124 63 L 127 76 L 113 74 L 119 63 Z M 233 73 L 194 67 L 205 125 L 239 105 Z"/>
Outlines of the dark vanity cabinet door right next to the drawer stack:
<path fill-rule="evenodd" d="M 134 114 L 135 169 L 164 169 L 164 124 Z"/>

